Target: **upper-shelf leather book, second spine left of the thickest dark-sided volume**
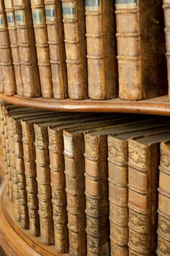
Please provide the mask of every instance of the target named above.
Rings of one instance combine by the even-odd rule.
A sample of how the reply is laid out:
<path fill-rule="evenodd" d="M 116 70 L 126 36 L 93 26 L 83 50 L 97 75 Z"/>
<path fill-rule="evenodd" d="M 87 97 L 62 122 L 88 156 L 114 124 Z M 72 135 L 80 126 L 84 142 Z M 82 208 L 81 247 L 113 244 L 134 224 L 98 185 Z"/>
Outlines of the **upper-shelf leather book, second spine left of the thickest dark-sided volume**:
<path fill-rule="evenodd" d="M 85 99 L 88 97 L 85 3 L 78 0 L 61 1 L 66 47 L 68 94 L 71 99 Z"/>

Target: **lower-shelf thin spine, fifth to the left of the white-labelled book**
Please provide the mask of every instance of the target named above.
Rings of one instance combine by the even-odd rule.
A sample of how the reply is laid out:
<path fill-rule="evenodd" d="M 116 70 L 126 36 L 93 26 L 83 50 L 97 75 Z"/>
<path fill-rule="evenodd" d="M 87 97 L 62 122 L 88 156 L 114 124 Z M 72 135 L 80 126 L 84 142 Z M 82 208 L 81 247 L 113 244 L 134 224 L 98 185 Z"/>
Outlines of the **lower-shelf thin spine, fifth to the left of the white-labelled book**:
<path fill-rule="evenodd" d="M 7 132 L 8 132 L 8 148 L 9 148 L 9 162 L 11 168 L 11 181 L 12 181 L 12 200 L 15 211 L 15 219 L 20 221 L 20 203 L 18 195 L 18 177 L 15 167 L 15 150 L 14 150 L 14 133 L 12 127 L 12 118 L 7 115 Z"/>

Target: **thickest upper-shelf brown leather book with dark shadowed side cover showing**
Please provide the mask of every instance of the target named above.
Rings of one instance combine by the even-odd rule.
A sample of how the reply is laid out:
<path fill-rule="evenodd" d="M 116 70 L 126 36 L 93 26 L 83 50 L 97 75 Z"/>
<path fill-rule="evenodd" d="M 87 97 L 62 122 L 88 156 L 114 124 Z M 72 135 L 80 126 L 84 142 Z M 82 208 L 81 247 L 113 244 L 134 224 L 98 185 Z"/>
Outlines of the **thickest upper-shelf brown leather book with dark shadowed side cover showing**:
<path fill-rule="evenodd" d="M 115 7 L 119 97 L 137 100 L 166 94 L 162 2 L 116 0 Z"/>

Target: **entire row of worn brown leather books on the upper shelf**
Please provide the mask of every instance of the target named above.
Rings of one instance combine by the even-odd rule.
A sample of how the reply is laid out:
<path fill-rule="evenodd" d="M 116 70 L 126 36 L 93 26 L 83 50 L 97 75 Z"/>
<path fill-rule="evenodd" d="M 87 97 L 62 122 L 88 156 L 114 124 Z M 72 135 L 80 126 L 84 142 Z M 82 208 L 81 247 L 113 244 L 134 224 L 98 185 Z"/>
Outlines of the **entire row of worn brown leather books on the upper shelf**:
<path fill-rule="evenodd" d="M 164 2 L 165 25 L 159 0 L 1 0 L 0 91 L 55 99 L 167 94 Z"/>

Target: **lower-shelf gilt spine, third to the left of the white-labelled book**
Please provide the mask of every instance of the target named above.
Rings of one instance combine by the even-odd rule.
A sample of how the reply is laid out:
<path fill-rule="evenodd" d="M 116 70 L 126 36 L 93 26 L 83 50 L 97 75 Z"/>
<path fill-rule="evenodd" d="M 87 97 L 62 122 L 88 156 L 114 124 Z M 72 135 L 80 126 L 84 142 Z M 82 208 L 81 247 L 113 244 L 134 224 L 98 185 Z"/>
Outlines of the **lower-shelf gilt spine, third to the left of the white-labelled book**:
<path fill-rule="evenodd" d="M 29 232 L 39 236 L 39 214 L 36 183 L 36 163 L 34 147 L 34 125 L 21 121 L 23 131 L 23 159 L 26 174 L 26 192 L 28 200 Z"/>

